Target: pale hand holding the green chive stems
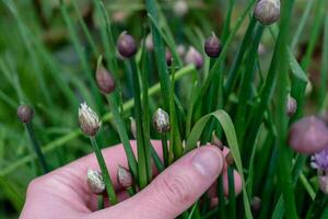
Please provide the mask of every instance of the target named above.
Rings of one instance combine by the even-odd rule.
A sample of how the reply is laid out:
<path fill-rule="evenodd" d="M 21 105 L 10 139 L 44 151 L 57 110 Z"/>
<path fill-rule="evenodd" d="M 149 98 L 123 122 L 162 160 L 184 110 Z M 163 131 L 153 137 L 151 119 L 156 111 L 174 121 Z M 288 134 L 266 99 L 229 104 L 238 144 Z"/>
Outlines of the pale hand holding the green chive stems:
<path fill-rule="evenodd" d="M 131 145 L 136 149 L 136 141 Z M 152 145 L 161 154 L 161 141 L 152 141 Z M 121 145 L 104 149 L 103 154 L 121 203 L 97 210 L 97 197 L 89 191 L 86 172 L 87 169 L 98 170 L 98 164 L 94 154 L 90 154 L 33 180 L 20 218 L 167 219 L 188 209 L 208 191 L 222 170 L 227 189 L 224 159 L 221 150 L 213 146 L 190 151 L 128 199 L 116 181 L 117 166 L 127 166 Z M 241 191 L 241 177 L 236 172 L 235 189 L 236 193 Z"/>

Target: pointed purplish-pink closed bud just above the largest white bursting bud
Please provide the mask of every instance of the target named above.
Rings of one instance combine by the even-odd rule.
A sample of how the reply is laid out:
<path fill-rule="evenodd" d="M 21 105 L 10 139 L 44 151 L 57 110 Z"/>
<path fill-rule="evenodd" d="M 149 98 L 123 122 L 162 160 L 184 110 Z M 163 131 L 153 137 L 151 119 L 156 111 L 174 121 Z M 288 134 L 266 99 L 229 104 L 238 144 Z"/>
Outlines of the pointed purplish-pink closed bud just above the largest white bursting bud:
<path fill-rule="evenodd" d="M 105 94 L 112 93 L 116 87 L 114 77 L 103 65 L 97 67 L 96 82 L 99 90 Z"/>

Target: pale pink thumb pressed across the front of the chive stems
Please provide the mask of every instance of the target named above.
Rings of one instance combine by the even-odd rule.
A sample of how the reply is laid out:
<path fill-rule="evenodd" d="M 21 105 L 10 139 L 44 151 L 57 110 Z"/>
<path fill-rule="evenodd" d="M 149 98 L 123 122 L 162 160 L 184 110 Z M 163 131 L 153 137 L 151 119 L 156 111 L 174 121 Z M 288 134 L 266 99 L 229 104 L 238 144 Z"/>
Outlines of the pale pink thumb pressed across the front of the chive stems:
<path fill-rule="evenodd" d="M 95 212 L 96 218 L 175 218 L 206 193 L 222 166 L 223 158 L 218 148 L 204 146 L 195 149 L 136 196 Z"/>

